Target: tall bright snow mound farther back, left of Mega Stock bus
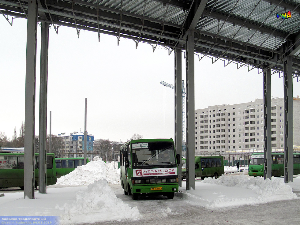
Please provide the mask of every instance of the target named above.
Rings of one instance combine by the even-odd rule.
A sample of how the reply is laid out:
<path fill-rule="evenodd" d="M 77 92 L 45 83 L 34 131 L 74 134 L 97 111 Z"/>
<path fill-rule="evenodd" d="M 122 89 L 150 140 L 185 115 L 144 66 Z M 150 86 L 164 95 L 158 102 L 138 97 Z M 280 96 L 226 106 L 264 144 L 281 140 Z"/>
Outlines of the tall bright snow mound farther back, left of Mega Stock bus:
<path fill-rule="evenodd" d="M 102 158 L 96 156 L 94 161 L 78 166 L 74 171 L 57 179 L 58 185 L 89 185 L 98 180 L 107 180 L 109 184 L 120 183 L 120 171 L 111 169 Z"/>

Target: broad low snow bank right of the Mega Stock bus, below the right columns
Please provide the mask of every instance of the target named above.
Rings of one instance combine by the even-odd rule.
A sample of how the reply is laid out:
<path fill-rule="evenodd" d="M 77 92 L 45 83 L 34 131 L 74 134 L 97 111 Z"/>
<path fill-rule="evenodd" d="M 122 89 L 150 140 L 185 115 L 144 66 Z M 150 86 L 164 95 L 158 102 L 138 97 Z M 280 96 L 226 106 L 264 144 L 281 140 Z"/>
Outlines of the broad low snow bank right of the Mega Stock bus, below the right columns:
<path fill-rule="evenodd" d="M 299 198 L 280 178 L 271 181 L 261 177 L 249 178 L 244 174 L 222 175 L 219 179 L 205 178 L 195 183 L 195 190 L 183 190 L 176 195 L 206 208 L 237 207 Z"/>

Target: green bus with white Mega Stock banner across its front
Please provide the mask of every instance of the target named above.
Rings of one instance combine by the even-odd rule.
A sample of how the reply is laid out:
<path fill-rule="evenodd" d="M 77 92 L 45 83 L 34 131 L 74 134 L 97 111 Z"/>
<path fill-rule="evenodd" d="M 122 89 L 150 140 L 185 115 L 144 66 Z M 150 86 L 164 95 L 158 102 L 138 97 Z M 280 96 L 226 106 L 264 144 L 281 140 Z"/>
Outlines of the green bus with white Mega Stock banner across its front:
<path fill-rule="evenodd" d="M 125 195 L 163 195 L 173 199 L 178 191 L 180 155 L 172 139 L 140 139 L 121 147 L 121 185 Z"/>

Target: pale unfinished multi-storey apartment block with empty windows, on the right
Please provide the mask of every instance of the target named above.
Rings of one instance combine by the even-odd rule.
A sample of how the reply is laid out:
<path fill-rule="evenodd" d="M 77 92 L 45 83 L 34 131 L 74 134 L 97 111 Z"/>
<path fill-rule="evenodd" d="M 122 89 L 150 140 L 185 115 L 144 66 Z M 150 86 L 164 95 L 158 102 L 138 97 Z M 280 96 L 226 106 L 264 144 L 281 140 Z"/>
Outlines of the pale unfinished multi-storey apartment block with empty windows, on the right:
<path fill-rule="evenodd" d="M 300 145 L 300 98 L 293 99 L 294 145 Z M 271 103 L 272 149 L 283 149 L 284 101 Z M 263 99 L 195 110 L 195 154 L 263 148 Z"/>

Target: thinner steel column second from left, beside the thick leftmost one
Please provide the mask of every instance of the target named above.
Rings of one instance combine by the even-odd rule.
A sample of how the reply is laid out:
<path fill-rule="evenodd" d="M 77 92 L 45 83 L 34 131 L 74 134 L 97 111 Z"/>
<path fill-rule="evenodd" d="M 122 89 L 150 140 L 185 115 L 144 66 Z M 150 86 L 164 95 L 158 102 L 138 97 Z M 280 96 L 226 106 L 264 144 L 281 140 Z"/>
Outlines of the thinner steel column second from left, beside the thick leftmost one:
<path fill-rule="evenodd" d="M 49 24 L 42 22 L 39 85 L 39 193 L 46 194 L 47 83 Z"/>

